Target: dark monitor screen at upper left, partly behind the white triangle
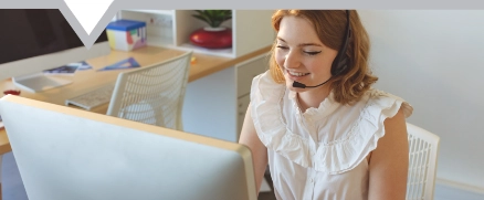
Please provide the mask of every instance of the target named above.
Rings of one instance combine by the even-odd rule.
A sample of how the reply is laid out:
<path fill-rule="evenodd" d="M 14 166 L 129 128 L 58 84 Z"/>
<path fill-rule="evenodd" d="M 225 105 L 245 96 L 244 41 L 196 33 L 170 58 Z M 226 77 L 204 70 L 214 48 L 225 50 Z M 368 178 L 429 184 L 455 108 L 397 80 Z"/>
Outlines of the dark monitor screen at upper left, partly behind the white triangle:
<path fill-rule="evenodd" d="M 84 46 L 56 9 L 8 9 L 0 11 L 0 63 Z M 107 41 L 102 33 L 97 42 Z"/>

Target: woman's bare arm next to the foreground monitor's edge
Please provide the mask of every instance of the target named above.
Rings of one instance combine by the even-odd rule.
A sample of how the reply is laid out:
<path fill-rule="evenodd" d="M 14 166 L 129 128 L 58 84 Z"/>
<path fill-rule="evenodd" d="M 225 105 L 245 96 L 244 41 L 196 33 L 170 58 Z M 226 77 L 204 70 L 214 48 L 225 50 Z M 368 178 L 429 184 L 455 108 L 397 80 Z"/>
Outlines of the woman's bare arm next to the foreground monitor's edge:
<path fill-rule="evenodd" d="M 255 183 L 257 193 L 261 189 L 262 179 L 264 178 L 265 168 L 267 167 L 267 149 L 261 143 L 255 131 L 254 122 L 251 115 L 251 105 L 249 104 L 245 114 L 244 124 L 240 135 L 239 144 L 248 146 L 252 151 L 252 160 L 254 164 Z"/>

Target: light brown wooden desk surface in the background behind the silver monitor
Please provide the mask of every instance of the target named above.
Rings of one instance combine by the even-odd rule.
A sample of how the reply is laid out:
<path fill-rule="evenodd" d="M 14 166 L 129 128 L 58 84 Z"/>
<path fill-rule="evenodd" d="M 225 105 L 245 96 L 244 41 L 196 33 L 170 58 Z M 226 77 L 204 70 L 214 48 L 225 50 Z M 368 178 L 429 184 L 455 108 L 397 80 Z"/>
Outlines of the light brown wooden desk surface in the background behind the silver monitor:
<path fill-rule="evenodd" d="M 266 46 L 236 59 L 193 53 L 197 62 L 190 66 L 190 75 L 188 82 L 196 81 L 227 67 L 233 66 L 240 62 L 266 53 L 270 50 L 271 46 Z M 59 88 L 52 88 L 42 93 L 30 93 L 27 91 L 22 91 L 20 96 L 64 105 L 64 101 L 66 98 L 77 96 L 80 94 L 90 92 L 104 85 L 114 84 L 117 78 L 117 74 L 122 72 L 120 70 L 96 72 L 97 69 L 102 69 L 106 65 L 116 63 L 130 56 L 138 61 L 141 66 L 147 66 L 154 63 L 162 62 L 182 53 L 183 51 L 155 46 L 146 46 L 133 52 L 112 51 L 109 55 L 87 60 L 87 63 L 91 64 L 94 70 L 78 71 L 74 76 L 60 76 L 73 80 L 74 82 L 70 85 L 65 85 Z M 19 88 L 15 87 L 11 81 L 2 81 L 0 82 L 0 90 L 4 91 Z M 99 106 L 93 109 L 93 112 L 101 114 L 105 114 L 106 110 L 107 104 L 105 106 Z M 9 152 L 12 149 L 10 147 L 6 130 L 0 129 L 0 155 Z"/>

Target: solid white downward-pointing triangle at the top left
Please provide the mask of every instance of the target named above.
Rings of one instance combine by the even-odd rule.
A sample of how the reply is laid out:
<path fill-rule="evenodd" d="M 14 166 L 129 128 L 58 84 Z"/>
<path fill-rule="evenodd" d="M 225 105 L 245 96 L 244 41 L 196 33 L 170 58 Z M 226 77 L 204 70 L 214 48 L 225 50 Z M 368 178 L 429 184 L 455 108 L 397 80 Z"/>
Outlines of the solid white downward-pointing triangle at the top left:
<path fill-rule="evenodd" d="M 114 0 L 64 0 L 88 35 Z"/>

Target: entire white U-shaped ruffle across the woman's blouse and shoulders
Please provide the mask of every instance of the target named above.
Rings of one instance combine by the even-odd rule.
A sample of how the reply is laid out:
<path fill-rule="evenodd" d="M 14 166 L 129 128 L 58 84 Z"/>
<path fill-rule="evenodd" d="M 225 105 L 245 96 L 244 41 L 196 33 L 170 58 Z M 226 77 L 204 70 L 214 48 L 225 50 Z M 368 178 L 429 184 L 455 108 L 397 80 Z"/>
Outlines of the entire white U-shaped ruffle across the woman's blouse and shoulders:
<path fill-rule="evenodd" d="M 281 156 L 306 168 L 330 175 L 341 173 L 358 166 L 385 136 L 383 122 L 402 108 L 406 117 L 413 108 L 402 98 L 370 90 L 358 104 L 359 109 L 338 108 L 332 115 L 356 115 L 355 122 L 329 123 L 328 126 L 349 124 L 350 128 L 337 134 L 334 141 L 318 143 L 303 138 L 287 128 L 282 116 L 285 85 L 275 83 L 269 72 L 254 77 L 251 88 L 251 113 L 262 144 Z M 353 113 L 351 113 L 353 112 Z M 332 116 L 328 116 L 330 118 Z"/>

